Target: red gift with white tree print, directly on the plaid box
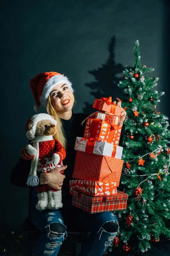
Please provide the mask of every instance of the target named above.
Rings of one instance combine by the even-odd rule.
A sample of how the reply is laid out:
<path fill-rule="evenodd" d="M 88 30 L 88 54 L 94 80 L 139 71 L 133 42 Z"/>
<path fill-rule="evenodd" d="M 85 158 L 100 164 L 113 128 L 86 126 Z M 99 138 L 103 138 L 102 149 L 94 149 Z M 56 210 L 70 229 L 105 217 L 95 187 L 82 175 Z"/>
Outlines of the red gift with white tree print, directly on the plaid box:
<path fill-rule="evenodd" d="M 117 184 L 113 181 L 114 175 L 110 174 L 101 181 L 70 180 L 70 194 L 73 189 L 92 196 L 114 195 L 117 193 Z"/>

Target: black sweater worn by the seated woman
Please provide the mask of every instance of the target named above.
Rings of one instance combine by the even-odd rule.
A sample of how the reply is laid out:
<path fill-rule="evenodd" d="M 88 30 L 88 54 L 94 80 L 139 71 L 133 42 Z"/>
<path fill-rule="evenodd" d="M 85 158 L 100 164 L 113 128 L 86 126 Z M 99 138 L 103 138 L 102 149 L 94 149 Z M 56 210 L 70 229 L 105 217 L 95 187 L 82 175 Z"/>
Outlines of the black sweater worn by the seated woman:
<path fill-rule="evenodd" d="M 72 179 L 73 170 L 74 170 L 74 161 L 76 157 L 76 152 L 74 150 L 74 145 L 76 137 L 83 137 L 85 130 L 85 123 L 80 125 L 82 120 L 87 117 L 83 113 L 72 113 L 71 119 L 64 120 L 62 119 L 63 128 L 65 131 L 65 137 L 67 139 L 67 148 L 66 148 L 66 157 L 63 160 L 63 164 L 67 165 L 67 169 L 64 171 L 65 179 L 62 185 L 62 192 L 69 192 L 69 180 Z M 125 133 L 125 125 L 122 127 L 122 133 L 120 137 L 119 145 L 122 146 L 123 137 Z M 11 183 L 16 186 L 27 187 L 27 178 L 31 167 L 31 161 L 24 160 L 20 157 L 16 166 L 11 173 Z"/>

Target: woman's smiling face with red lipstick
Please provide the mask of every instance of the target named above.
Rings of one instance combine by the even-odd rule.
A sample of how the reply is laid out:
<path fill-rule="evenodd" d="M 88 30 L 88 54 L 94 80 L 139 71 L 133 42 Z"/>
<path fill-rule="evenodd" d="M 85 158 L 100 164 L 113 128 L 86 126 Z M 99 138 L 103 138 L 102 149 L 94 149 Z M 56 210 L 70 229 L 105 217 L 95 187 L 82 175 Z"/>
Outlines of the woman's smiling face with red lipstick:
<path fill-rule="evenodd" d="M 74 94 L 65 83 L 57 84 L 50 92 L 53 107 L 58 112 L 67 112 L 73 108 Z"/>

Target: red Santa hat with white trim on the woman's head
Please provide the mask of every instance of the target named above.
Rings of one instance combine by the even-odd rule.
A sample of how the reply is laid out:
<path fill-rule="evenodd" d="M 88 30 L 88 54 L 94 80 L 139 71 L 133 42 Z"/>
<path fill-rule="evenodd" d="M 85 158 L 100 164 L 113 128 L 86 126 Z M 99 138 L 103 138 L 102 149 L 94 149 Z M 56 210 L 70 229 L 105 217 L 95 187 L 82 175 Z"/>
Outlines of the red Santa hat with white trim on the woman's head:
<path fill-rule="evenodd" d="M 57 72 L 40 73 L 30 80 L 30 87 L 36 103 L 34 106 L 36 112 L 40 111 L 41 106 L 46 107 L 51 90 L 59 83 L 67 84 L 71 91 L 74 92 L 71 81 Z"/>

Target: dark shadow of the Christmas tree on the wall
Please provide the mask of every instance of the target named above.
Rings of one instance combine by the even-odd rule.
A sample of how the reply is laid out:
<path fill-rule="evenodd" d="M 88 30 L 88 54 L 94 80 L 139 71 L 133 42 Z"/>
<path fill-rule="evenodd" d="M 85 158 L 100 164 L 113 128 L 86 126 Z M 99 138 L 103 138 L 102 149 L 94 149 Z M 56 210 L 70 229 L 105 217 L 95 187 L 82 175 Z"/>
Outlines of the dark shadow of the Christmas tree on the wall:
<path fill-rule="evenodd" d="M 91 95 L 94 96 L 94 99 L 100 99 L 102 97 L 112 96 L 112 100 L 116 98 L 122 99 L 122 89 L 117 86 L 120 80 L 120 76 L 117 76 L 119 73 L 122 73 L 125 69 L 122 64 L 115 64 L 114 61 L 114 47 L 115 47 L 115 36 L 111 38 L 111 41 L 108 45 L 109 58 L 105 64 L 102 64 L 102 67 L 99 67 L 97 70 L 90 70 L 88 73 L 94 76 L 95 81 L 90 83 L 85 83 L 85 86 L 91 88 Z M 83 112 L 91 114 L 94 112 L 92 104 L 85 102 L 85 107 Z"/>

